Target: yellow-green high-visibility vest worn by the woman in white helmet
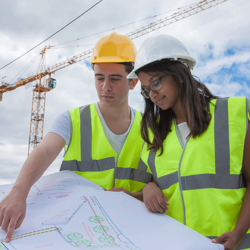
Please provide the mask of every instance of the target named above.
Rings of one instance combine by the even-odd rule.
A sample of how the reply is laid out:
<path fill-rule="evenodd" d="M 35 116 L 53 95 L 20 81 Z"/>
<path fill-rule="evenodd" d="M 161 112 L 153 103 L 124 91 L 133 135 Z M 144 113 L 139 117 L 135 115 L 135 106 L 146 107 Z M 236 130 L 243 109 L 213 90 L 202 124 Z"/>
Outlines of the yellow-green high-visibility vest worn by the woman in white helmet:
<path fill-rule="evenodd" d="M 146 143 L 142 150 L 142 160 L 170 203 L 167 214 L 209 238 L 232 231 L 241 209 L 248 105 L 245 97 L 212 100 L 211 121 L 200 136 L 182 145 L 173 121 L 161 156 L 160 149 L 149 151 Z M 248 248 L 250 234 L 237 249 Z"/>

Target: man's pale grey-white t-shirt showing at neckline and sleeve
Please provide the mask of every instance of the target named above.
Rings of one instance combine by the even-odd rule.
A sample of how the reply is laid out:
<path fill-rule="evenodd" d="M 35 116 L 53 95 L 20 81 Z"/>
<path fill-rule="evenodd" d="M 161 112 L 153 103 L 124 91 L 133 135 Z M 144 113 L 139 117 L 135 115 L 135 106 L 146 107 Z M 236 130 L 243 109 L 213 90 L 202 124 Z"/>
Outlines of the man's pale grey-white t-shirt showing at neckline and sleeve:
<path fill-rule="evenodd" d="M 100 120 L 101 120 L 101 123 L 103 126 L 103 130 L 104 130 L 104 134 L 107 137 L 109 144 L 116 151 L 116 153 L 119 154 L 121 152 L 123 144 L 127 138 L 127 135 L 131 129 L 131 126 L 134 122 L 135 110 L 130 107 L 131 122 L 130 122 L 128 130 L 122 135 L 116 135 L 108 128 L 97 103 L 95 103 L 95 108 L 96 108 L 97 113 L 100 117 Z M 67 144 L 67 145 L 69 144 L 69 140 L 71 137 L 71 118 L 70 118 L 69 111 L 65 111 L 65 112 L 61 113 L 55 119 L 54 123 L 52 124 L 52 126 L 49 130 L 49 133 L 55 133 L 55 134 L 60 135 L 65 140 L 65 144 Z"/>

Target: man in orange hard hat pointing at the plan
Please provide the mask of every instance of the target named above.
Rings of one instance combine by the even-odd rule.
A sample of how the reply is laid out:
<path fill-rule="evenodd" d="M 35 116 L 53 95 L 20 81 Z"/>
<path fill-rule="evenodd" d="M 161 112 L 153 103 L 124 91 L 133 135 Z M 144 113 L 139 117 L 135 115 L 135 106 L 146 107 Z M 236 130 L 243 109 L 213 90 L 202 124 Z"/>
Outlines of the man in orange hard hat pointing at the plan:
<path fill-rule="evenodd" d="M 65 145 L 61 170 L 75 171 L 107 190 L 124 191 L 142 200 L 141 190 L 152 176 L 140 161 L 141 114 L 128 105 L 128 92 L 137 79 L 126 76 L 133 70 L 135 56 L 134 44 L 126 36 L 112 33 L 98 41 L 91 64 L 99 102 L 61 114 L 25 161 L 12 190 L 0 203 L 6 242 L 25 217 L 30 188 Z"/>

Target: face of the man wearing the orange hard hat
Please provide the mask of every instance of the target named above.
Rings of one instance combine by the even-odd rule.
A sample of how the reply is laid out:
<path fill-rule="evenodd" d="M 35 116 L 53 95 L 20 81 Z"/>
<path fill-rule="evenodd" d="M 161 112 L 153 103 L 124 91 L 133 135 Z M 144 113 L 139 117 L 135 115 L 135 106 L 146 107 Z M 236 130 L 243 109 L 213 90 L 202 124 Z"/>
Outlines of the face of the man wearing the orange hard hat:
<path fill-rule="evenodd" d="M 133 89 L 126 78 L 125 66 L 117 63 L 97 63 L 94 65 L 95 87 L 100 104 L 106 107 L 120 106 L 128 100 L 129 89 Z"/>

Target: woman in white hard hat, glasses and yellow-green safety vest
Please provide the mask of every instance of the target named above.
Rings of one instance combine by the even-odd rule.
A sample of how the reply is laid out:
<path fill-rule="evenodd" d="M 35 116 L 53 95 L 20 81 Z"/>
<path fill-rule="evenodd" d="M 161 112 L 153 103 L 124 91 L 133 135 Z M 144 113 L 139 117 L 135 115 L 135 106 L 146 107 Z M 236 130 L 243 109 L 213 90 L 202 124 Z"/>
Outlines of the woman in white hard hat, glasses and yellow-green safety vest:
<path fill-rule="evenodd" d="M 144 202 L 225 249 L 250 249 L 248 99 L 212 95 L 194 65 L 180 41 L 161 35 L 142 44 L 128 75 L 146 102 L 141 158 L 155 182 Z"/>

